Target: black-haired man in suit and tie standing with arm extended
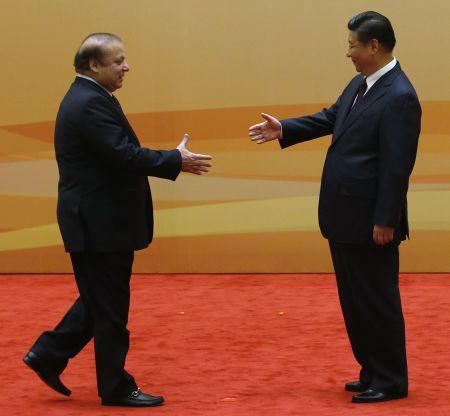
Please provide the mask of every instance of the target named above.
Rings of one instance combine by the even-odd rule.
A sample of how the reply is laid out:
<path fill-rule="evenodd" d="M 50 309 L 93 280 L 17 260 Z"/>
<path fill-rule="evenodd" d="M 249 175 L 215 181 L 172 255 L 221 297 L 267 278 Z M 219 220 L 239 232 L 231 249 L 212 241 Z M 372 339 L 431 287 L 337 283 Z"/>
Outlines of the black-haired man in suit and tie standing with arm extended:
<path fill-rule="evenodd" d="M 258 144 L 282 148 L 332 134 L 323 168 L 319 223 L 328 239 L 359 379 L 345 385 L 354 403 L 406 397 L 405 325 L 398 288 L 400 241 L 420 132 L 413 86 L 392 55 L 390 21 L 364 12 L 348 22 L 347 57 L 360 75 L 336 103 L 304 117 L 249 129 Z"/>

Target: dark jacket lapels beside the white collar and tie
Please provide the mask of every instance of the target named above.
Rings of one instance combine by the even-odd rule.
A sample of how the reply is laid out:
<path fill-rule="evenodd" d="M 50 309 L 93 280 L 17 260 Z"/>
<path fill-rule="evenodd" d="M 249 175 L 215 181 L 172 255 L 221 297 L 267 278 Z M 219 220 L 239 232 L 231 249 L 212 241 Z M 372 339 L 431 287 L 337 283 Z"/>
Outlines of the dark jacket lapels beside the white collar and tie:
<path fill-rule="evenodd" d="M 393 80 L 397 77 L 397 75 L 401 72 L 400 64 L 397 65 L 389 71 L 387 74 L 383 75 L 375 84 L 370 88 L 367 94 L 364 96 L 363 100 L 355 106 L 355 108 L 351 108 L 353 105 L 354 99 L 356 97 L 356 92 L 358 90 L 358 85 L 356 85 L 355 90 L 349 91 L 346 95 L 346 108 L 344 107 L 340 122 L 336 126 L 335 134 L 333 135 L 332 144 L 336 143 L 341 137 L 342 134 L 347 130 L 358 118 L 361 114 L 366 111 L 372 104 L 378 101 L 383 95 L 388 91 L 388 87 L 392 84 Z M 362 79 L 362 78 L 361 78 Z M 350 102 L 350 105 L 348 105 Z M 350 108 L 349 108 L 350 107 Z M 347 115 L 345 117 L 345 115 Z M 345 118 L 344 118 L 345 117 Z"/>

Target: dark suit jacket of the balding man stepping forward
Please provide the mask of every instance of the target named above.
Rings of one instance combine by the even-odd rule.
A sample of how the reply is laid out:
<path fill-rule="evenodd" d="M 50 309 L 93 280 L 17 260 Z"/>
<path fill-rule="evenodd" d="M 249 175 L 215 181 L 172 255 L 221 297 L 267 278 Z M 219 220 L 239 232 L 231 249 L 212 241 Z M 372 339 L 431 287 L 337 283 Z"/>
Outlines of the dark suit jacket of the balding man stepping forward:
<path fill-rule="evenodd" d="M 142 148 L 118 102 L 79 77 L 59 108 L 55 152 L 57 216 L 66 251 L 147 247 L 153 236 L 147 176 L 175 180 L 180 152 Z"/>

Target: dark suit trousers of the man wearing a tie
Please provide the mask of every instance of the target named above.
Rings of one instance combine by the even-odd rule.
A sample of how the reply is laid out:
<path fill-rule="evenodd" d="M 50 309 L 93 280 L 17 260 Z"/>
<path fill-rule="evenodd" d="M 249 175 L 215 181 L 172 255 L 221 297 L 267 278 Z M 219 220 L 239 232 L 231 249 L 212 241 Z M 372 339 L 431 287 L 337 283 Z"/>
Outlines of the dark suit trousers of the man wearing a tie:
<path fill-rule="evenodd" d="M 405 322 L 398 286 L 398 243 L 329 241 L 339 300 L 360 381 L 407 392 Z"/>

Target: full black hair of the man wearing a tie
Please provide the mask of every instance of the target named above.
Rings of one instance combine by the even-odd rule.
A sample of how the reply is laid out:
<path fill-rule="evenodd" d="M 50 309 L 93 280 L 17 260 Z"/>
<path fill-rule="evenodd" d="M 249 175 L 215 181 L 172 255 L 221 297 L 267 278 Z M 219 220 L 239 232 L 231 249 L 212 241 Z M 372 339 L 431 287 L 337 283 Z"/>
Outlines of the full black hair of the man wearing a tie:
<path fill-rule="evenodd" d="M 388 52 L 394 49 L 394 29 L 389 19 L 380 13 L 359 13 L 349 20 L 347 27 L 349 30 L 356 31 L 358 40 L 362 43 L 376 39 Z"/>

